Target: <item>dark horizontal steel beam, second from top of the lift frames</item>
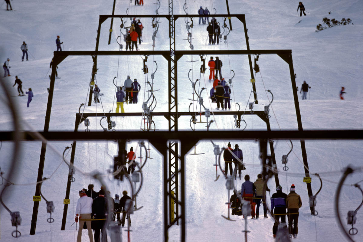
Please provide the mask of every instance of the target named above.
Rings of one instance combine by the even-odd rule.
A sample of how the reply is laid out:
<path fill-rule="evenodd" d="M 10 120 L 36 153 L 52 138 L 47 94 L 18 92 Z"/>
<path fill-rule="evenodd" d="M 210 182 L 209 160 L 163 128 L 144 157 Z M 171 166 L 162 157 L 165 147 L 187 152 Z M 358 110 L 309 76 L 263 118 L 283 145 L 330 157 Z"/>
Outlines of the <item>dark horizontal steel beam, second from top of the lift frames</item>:
<path fill-rule="evenodd" d="M 139 51 L 54 51 L 54 57 L 61 56 L 140 56 L 140 55 L 168 55 L 169 50 L 139 50 Z M 291 54 L 291 50 L 175 50 L 176 56 L 201 55 L 201 54 L 226 54 L 226 55 L 249 55 L 249 54 Z"/>

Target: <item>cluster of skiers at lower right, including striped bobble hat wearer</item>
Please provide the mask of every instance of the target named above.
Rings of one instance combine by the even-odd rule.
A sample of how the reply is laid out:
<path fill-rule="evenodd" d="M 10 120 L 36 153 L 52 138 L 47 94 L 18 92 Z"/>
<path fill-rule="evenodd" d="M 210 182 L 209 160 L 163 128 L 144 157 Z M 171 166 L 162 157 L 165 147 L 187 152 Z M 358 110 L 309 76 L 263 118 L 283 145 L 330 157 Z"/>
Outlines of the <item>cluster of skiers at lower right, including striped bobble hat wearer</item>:
<path fill-rule="evenodd" d="M 250 206 L 252 219 L 258 219 L 261 203 L 264 209 L 264 218 L 268 218 L 266 196 L 263 195 L 263 188 L 265 182 L 262 179 L 262 174 L 257 175 L 257 179 L 255 182 L 250 181 L 249 175 L 245 175 L 244 179 L 245 182 L 242 183 L 241 190 L 237 192 L 237 190 L 234 189 L 233 195 L 229 200 L 231 204 L 232 215 L 242 216 L 243 204 L 240 200 L 242 198 L 243 200 L 247 201 L 248 206 Z M 266 192 L 270 192 L 270 189 L 267 185 Z M 300 196 L 295 192 L 295 185 L 292 184 L 290 186 L 290 193 L 288 195 L 286 193 L 283 193 L 282 186 L 278 185 L 276 187 L 276 193 L 273 193 L 270 198 L 270 202 L 271 216 L 274 216 L 275 218 L 275 222 L 272 227 L 273 238 L 276 238 L 278 236 L 280 219 L 282 226 L 286 226 L 286 216 L 289 237 L 297 238 L 299 208 L 301 208 L 302 202 Z"/>

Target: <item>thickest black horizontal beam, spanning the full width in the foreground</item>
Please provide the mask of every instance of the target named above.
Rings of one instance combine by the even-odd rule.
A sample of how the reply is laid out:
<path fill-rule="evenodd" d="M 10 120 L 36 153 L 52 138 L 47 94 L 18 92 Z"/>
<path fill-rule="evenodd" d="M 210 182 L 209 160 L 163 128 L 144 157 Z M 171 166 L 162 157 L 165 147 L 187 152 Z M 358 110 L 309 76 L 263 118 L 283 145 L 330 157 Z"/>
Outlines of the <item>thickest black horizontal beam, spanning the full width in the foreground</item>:
<path fill-rule="evenodd" d="M 109 131 L 109 132 L 21 132 L 22 140 L 40 140 L 37 133 L 51 141 L 62 140 L 150 140 L 163 142 L 166 140 L 254 140 L 254 139 L 297 139 L 297 140 L 362 140 L 363 130 L 282 130 L 282 131 Z M 0 140 L 13 140 L 14 132 L 0 132 Z"/>

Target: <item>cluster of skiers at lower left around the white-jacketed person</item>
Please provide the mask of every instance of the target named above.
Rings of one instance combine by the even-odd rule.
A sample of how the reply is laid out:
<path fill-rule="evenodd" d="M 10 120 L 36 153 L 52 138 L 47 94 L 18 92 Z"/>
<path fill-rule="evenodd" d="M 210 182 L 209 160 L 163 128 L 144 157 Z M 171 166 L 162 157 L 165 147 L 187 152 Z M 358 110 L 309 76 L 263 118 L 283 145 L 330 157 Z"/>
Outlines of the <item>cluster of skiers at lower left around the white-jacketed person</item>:
<path fill-rule="evenodd" d="M 83 188 L 78 192 L 79 198 L 76 206 L 76 217 L 74 218 L 76 223 L 79 222 L 77 242 L 81 242 L 83 229 L 88 230 L 90 242 L 106 242 L 106 228 L 111 220 L 117 219 L 118 225 L 123 227 L 127 217 L 127 224 L 131 226 L 129 209 L 132 206 L 132 200 L 127 195 L 127 191 L 122 192 L 121 198 L 118 194 L 112 198 L 110 191 L 106 191 L 105 187 L 101 186 L 99 192 L 95 192 L 93 188 L 94 185 L 89 184 L 88 190 Z M 108 214 L 109 205 L 111 206 L 111 214 Z M 122 213 L 122 218 L 120 218 L 120 213 Z M 92 230 L 94 230 L 94 235 Z"/>

